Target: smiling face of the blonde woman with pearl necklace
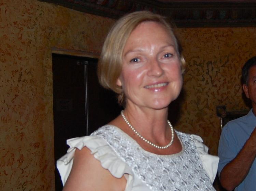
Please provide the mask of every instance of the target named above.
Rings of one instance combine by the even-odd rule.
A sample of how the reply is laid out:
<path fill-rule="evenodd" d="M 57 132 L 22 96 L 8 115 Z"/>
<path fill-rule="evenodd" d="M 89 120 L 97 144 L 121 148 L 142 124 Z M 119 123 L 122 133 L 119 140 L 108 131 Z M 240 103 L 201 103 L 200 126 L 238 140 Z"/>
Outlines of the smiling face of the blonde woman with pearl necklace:
<path fill-rule="evenodd" d="M 181 62 L 174 39 L 160 23 L 139 24 L 128 38 L 117 85 L 126 95 L 126 107 L 161 109 L 175 100 L 182 88 Z"/>

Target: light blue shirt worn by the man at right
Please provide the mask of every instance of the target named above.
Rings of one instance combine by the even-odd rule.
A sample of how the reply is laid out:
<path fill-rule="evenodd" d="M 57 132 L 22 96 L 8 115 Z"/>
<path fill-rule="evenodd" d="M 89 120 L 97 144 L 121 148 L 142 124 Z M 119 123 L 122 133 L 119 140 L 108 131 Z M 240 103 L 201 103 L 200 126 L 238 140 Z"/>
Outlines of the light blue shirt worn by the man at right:
<path fill-rule="evenodd" d="M 252 109 L 247 115 L 229 121 L 222 129 L 219 139 L 218 175 L 227 163 L 237 156 L 256 126 L 256 117 Z M 250 171 L 235 191 L 256 191 L 256 159 Z"/>

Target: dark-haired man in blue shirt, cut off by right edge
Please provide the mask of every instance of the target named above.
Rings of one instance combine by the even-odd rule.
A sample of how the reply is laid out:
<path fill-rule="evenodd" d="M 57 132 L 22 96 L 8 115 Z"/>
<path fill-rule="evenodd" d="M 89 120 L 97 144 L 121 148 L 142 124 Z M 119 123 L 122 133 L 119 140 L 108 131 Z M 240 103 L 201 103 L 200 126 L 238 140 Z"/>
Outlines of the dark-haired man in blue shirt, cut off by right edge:
<path fill-rule="evenodd" d="M 256 56 L 243 66 L 242 80 L 252 109 L 223 127 L 218 148 L 218 175 L 226 190 L 256 191 Z"/>

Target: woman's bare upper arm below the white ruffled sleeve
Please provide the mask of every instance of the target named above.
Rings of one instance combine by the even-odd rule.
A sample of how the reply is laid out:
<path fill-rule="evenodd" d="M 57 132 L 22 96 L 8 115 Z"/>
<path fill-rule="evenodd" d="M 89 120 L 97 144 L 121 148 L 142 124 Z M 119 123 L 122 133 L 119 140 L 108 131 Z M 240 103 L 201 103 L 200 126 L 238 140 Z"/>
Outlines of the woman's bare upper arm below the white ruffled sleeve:
<path fill-rule="evenodd" d="M 87 147 L 76 149 L 73 166 L 63 191 L 124 191 L 125 177 L 115 178 L 101 166 Z"/>

